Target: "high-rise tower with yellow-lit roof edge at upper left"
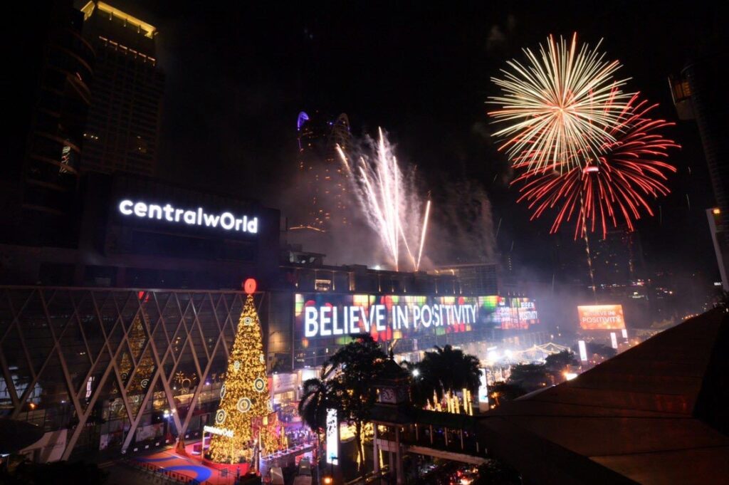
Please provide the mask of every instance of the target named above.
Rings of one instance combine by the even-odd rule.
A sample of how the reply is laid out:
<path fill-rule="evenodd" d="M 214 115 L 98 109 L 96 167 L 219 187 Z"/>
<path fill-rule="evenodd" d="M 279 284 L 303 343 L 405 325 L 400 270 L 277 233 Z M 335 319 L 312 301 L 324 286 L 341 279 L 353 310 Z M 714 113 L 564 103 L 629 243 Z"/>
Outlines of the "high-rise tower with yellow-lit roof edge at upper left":
<path fill-rule="evenodd" d="M 102 1 L 82 11 L 96 63 L 81 168 L 153 175 L 164 84 L 157 29 Z"/>

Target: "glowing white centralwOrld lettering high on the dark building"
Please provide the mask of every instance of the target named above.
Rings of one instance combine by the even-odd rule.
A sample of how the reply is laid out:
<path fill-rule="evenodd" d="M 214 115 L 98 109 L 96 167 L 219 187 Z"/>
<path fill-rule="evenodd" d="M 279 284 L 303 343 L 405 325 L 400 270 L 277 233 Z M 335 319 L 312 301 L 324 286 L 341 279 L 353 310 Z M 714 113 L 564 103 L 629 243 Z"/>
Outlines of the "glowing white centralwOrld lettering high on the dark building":
<path fill-rule="evenodd" d="M 124 217 L 152 219 L 173 224 L 199 225 L 206 228 L 222 228 L 239 233 L 258 233 L 258 217 L 235 217 L 232 212 L 208 214 L 202 207 L 197 209 L 179 209 L 171 204 L 160 205 L 142 201 L 124 199 L 118 206 Z"/>

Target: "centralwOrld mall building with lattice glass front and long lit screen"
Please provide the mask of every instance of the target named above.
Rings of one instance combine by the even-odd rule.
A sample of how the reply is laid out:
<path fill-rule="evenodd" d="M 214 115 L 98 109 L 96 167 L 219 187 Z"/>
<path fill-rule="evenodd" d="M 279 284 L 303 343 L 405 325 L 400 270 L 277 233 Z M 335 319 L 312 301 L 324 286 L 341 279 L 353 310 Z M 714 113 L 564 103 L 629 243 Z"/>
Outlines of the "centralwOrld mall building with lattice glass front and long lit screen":
<path fill-rule="evenodd" d="M 0 415 L 44 429 L 24 451 L 36 461 L 198 438 L 251 277 L 284 422 L 301 383 L 359 333 L 409 360 L 546 338 L 528 298 L 469 294 L 452 273 L 325 265 L 285 244 L 280 213 L 257 201 L 90 173 L 74 211 L 63 247 L 0 235 Z"/>

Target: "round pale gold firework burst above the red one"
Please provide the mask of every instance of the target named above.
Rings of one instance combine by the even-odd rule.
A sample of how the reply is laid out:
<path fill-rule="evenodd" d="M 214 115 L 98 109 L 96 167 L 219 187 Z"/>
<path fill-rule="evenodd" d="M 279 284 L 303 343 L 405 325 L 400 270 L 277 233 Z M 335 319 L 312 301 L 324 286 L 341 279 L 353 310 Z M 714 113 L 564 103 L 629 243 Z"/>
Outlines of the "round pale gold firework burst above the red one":
<path fill-rule="evenodd" d="M 606 140 L 615 141 L 632 95 L 620 90 L 627 79 L 613 77 L 620 63 L 606 61 L 599 47 L 578 49 L 577 34 L 569 43 L 550 36 L 539 55 L 523 50 L 526 65 L 509 61 L 503 79 L 491 78 L 502 95 L 487 101 L 500 106 L 488 115 L 507 124 L 494 136 L 512 162 L 562 173 L 582 166 L 578 154 L 597 158 Z"/>

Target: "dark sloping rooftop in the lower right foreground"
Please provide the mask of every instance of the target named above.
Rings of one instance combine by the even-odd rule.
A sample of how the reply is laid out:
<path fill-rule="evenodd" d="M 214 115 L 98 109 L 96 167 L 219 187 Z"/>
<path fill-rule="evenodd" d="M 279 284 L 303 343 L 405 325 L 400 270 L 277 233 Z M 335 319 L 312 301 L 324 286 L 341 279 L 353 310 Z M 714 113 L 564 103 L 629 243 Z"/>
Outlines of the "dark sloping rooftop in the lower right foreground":
<path fill-rule="evenodd" d="M 729 484 L 729 314 L 666 330 L 504 403 L 479 441 L 525 484 Z"/>

